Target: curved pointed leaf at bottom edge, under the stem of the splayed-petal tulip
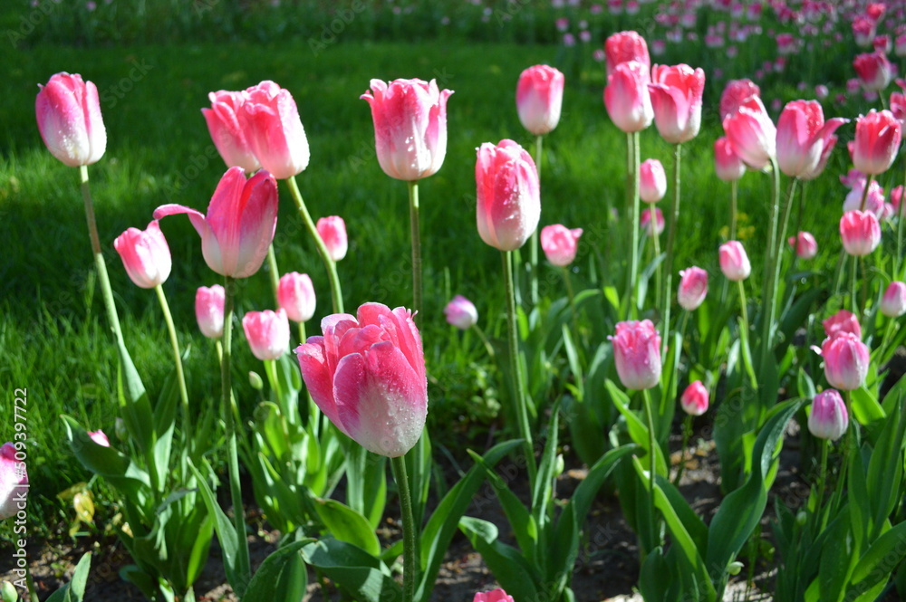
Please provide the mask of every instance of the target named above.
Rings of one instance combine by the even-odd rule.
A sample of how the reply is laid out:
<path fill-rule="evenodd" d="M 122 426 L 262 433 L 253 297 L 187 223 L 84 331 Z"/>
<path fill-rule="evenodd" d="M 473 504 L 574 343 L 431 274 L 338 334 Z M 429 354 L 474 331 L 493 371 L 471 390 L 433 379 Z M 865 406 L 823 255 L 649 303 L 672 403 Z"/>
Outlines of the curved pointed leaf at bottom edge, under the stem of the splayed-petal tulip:
<path fill-rule="evenodd" d="M 308 575 L 299 553 L 313 540 L 305 539 L 277 549 L 248 582 L 242 602 L 299 602 L 308 586 Z"/>

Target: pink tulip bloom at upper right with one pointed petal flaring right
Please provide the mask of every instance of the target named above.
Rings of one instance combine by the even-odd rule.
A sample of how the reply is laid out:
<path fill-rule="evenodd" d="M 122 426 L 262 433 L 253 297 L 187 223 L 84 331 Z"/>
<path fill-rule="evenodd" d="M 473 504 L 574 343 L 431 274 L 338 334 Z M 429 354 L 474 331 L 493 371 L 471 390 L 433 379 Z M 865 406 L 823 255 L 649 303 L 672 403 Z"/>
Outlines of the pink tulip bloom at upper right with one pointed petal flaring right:
<path fill-rule="evenodd" d="M 834 118 L 825 122 L 824 111 L 816 100 L 788 102 L 777 120 L 776 148 L 780 171 L 791 177 L 812 174 L 834 131 L 848 121 Z"/>

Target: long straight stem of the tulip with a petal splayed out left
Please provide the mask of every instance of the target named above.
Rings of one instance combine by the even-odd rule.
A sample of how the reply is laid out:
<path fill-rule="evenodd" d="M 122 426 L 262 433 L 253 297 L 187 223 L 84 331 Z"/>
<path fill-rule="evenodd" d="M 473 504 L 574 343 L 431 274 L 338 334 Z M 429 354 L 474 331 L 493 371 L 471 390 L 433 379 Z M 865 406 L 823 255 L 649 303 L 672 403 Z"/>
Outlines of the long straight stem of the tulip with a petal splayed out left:
<path fill-rule="evenodd" d="M 236 289 L 235 281 L 229 276 L 224 276 L 224 335 L 223 358 L 220 362 L 220 384 L 223 388 L 223 415 L 226 422 L 226 460 L 229 470 L 230 496 L 233 501 L 233 525 L 236 529 L 236 543 L 238 556 L 236 558 L 236 572 L 240 581 L 248 583 L 251 578 L 251 568 L 248 557 L 248 540 L 246 539 L 246 513 L 242 505 L 242 489 L 239 482 L 239 454 L 236 449 L 236 422 L 233 417 L 234 408 L 232 390 L 233 384 L 230 375 L 230 357 L 233 339 L 233 295 Z"/>

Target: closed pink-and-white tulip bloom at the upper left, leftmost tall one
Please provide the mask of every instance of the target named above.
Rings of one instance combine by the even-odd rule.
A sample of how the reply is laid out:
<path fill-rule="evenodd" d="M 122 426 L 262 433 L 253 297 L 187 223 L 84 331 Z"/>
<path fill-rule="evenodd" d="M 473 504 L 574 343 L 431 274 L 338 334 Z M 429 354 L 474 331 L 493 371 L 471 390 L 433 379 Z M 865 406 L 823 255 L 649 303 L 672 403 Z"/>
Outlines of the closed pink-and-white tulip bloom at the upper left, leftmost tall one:
<path fill-rule="evenodd" d="M 38 131 L 53 157 L 68 167 L 92 165 L 107 148 L 98 89 L 78 73 L 53 75 L 34 100 Z"/>

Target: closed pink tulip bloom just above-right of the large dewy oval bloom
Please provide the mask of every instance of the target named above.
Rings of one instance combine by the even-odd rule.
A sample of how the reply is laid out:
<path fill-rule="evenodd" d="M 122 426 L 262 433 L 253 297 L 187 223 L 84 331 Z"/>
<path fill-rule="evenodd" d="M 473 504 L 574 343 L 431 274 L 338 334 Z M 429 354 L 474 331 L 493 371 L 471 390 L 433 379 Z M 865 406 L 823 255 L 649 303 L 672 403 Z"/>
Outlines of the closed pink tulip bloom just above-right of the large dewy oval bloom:
<path fill-rule="evenodd" d="M 564 74 L 535 65 L 519 76 L 516 86 L 516 111 L 522 127 L 542 136 L 557 127 L 564 100 Z"/>

